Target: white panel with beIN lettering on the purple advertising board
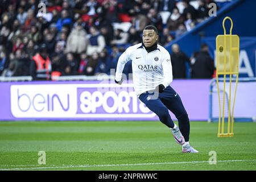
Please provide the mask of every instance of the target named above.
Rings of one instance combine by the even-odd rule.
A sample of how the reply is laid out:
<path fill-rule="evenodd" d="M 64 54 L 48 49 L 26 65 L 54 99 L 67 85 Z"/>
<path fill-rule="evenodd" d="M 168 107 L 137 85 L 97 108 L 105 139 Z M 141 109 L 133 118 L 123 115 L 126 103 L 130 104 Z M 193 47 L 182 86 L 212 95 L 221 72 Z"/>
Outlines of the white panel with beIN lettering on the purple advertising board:
<path fill-rule="evenodd" d="M 17 118 L 67 117 L 76 113 L 76 89 L 67 85 L 11 85 L 11 113 Z"/>

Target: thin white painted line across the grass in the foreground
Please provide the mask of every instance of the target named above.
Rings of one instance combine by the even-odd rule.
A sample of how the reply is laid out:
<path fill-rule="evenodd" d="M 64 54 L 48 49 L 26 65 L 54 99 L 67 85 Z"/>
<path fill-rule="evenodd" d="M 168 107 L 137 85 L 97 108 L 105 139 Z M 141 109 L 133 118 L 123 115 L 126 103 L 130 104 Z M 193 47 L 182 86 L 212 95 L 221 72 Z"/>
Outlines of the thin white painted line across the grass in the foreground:
<path fill-rule="evenodd" d="M 256 159 L 251 160 L 217 160 L 217 163 L 224 162 L 254 162 Z M 167 162 L 167 163 L 141 163 L 141 164 L 96 164 L 96 165 L 67 165 L 67 166 L 56 166 L 56 167 L 31 167 L 31 168 L 5 168 L 0 171 L 11 171 L 11 170 L 29 170 L 29 169 L 58 169 L 58 168 L 78 168 L 78 167 L 112 167 L 112 166 L 146 166 L 146 165 L 156 165 L 156 164 L 189 164 L 189 163 L 209 163 L 209 161 L 191 161 L 191 162 Z"/>

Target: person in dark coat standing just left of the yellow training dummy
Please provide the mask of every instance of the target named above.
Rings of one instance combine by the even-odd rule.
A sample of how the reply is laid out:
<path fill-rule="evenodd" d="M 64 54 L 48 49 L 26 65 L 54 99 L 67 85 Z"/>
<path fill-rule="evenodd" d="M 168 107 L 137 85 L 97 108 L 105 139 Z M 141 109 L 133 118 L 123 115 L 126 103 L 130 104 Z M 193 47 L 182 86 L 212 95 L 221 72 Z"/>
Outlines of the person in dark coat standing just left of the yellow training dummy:
<path fill-rule="evenodd" d="M 214 61 L 209 55 L 207 44 L 201 46 L 201 51 L 195 57 L 195 63 L 192 64 L 192 78 L 212 78 L 214 73 Z"/>

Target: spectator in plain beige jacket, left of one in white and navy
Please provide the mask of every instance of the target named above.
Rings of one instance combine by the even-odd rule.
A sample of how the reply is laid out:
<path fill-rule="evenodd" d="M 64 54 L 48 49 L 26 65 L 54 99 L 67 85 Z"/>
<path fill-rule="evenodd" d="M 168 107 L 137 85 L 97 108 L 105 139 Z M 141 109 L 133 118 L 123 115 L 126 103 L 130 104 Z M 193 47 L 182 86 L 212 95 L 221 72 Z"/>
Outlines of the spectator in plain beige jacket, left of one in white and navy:
<path fill-rule="evenodd" d="M 79 23 L 68 36 L 66 52 L 81 53 L 86 51 L 87 46 L 86 32 Z"/>

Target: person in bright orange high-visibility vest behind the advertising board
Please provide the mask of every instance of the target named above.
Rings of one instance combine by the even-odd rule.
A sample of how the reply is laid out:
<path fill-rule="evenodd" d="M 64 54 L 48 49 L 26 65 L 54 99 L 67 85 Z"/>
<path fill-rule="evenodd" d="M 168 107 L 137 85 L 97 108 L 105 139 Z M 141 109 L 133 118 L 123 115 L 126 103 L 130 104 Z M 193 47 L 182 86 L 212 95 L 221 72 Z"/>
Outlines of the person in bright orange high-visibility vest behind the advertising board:
<path fill-rule="evenodd" d="M 51 80 L 51 60 L 49 59 L 47 47 L 42 44 L 39 53 L 32 57 L 30 64 L 30 75 L 33 80 Z"/>

